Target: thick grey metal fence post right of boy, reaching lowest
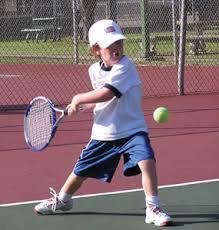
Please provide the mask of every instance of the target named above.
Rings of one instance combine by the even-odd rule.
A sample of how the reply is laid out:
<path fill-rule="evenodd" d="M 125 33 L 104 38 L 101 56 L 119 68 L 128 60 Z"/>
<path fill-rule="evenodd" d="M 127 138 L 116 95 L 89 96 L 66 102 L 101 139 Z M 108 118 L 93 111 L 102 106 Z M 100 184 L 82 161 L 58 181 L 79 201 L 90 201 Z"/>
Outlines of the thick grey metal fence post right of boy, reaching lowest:
<path fill-rule="evenodd" d="M 186 49 L 186 24 L 187 0 L 181 0 L 180 13 L 180 41 L 179 41 L 179 66 L 178 66 L 178 93 L 184 95 L 185 49 Z"/>

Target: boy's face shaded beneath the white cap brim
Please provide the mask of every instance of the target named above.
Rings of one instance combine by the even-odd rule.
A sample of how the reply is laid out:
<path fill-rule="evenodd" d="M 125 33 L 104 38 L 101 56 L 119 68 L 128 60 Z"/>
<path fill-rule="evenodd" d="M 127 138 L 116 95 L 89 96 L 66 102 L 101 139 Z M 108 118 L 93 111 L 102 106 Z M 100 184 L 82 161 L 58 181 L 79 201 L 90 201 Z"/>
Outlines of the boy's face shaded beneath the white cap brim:
<path fill-rule="evenodd" d="M 123 40 L 118 40 L 107 48 L 100 48 L 100 57 L 106 67 L 111 67 L 123 56 Z"/>

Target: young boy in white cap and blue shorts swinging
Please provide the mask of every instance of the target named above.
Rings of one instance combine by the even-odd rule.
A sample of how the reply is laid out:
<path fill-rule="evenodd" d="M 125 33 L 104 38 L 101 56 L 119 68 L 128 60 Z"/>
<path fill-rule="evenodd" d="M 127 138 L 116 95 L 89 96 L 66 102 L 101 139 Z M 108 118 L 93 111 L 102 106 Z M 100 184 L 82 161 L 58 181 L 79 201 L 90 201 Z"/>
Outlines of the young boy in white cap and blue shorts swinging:
<path fill-rule="evenodd" d="M 121 28 L 112 20 L 100 20 L 89 30 L 91 52 L 99 61 L 89 68 L 93 90 L 77 94 L 67 106 L 68 115 L 93 109 L 91 140 L 82 150 L 59 194 L 36 205 L 40 214 L 70 210 L 71 199 L 89 177 L 110 182 L 124 158 L 124 175 L 142 174 L 146 223 L 166 226 L 171 218 L 159 204 L 155 157 L 141 110 L 141 81 L 134 63 L 123 54 Z"/>

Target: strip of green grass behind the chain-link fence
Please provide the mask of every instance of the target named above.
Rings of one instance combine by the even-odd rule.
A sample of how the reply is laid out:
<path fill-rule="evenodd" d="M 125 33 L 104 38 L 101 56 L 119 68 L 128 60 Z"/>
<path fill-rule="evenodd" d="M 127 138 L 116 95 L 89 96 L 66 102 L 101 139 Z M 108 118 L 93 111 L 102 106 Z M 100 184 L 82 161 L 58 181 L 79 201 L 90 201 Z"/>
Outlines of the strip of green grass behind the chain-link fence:
<path fill-rule="evenodd" d="M 171 36 L 172 33 L 153 33 L 151 36 Z M 187 58 L 192 64 L 219 64 L 219 43 L 206 43 L 208 55 L 190 56 Z M 89 53 L 88 44 L 80 41 L 79 63 L 91 63 L 94 58 Z M 125 42 L 125 53 L 138 64 L 174 64 L 172 41 L 159 41 L 156 44 L 157 56 L 142 58 L 141 34 L 128 34 Z M 189 46 L 186 46 L 189 52 Z M 73 41 L 71 37 L 61 41 L 2 41 L 0 42 L 0 63 L 73 63 Z"/>

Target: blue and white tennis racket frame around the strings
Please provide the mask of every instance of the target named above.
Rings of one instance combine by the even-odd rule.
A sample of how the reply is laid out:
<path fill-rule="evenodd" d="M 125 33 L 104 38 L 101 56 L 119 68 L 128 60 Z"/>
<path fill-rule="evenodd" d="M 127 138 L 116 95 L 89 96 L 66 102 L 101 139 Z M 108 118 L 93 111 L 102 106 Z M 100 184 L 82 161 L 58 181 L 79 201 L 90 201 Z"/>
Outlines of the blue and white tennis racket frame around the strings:
<path fill-rule="evenodd" d="M 48 142 L 42 146 L 41 148 L 36 148 L 34 146 L 31 145 L 31 142 L 29 140 L 29 137 L 27 135 L 27 116 L 29 114 L 29 111 L 31 109 L 31 107 L 33 106 L 33 104 L 37 101 L 37 100 L 44 100 L 46 103 L 48 103 L 49 107 L 51 108 L 51 111 L 52 111 L 52 131 L 51 131 L 51 136 L 48 140 Z M 57 116 L 56 114 L 58 113 L 61 113 L 61 115 L 59 116 L 59 118 L 57 119 Z M 48 145 L 50 144 L 51 140 L 53 139 L 53 137 L 55 136 L 55 133 L 57 131 L 57 128 L 60 124 L 60 122 L 62 121 L 62 119 L 68 115 L 68 110 L 67 109 L 58 109 L 57 107 L 55 107 L 55 105 L 53 104 L 53 102 L 48 99 L 47 97 L 44 97 L 44 96 L 37 96 L 35 98 L 33 98 L 33 100 L 31 100 L 30 104 L 27 106 L 27 109 L 26 109 L 26 112 L 24 114 L 24 138 L 25 138 L 25 141 L 28 145 L 28 147 L 34 151 L 34 152 L 38 152 L 38 151 L 41 151 L 43 149 L 45 149 L 46 147 L 48 147 Z"/>

